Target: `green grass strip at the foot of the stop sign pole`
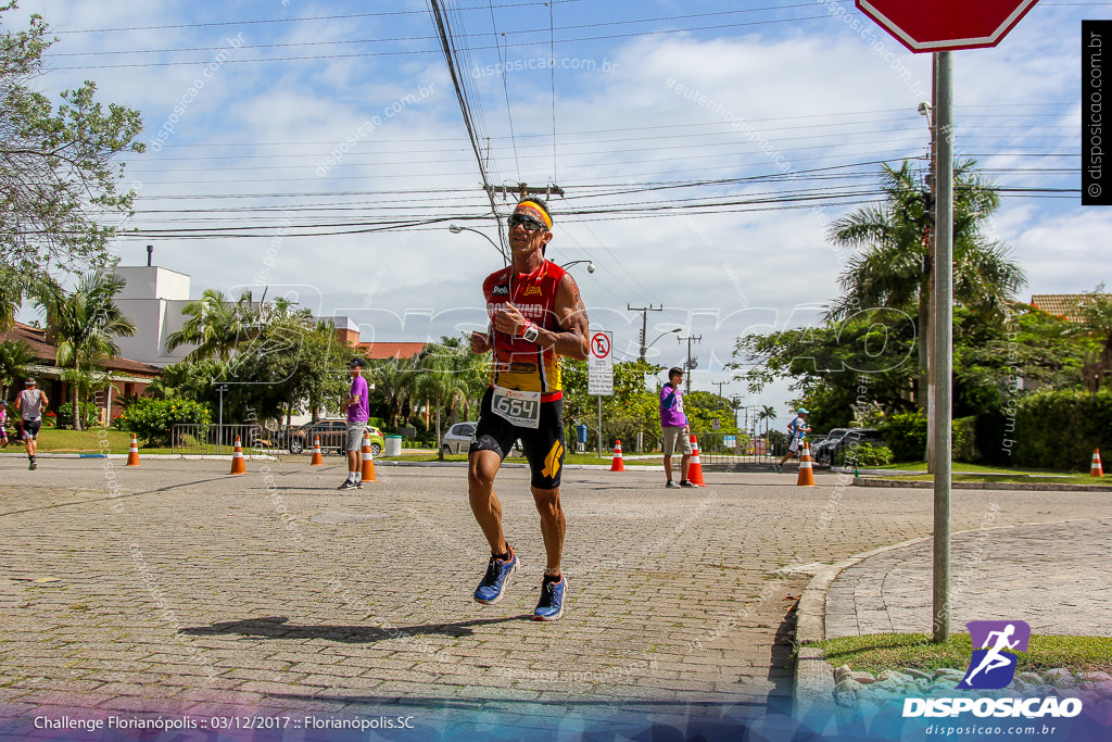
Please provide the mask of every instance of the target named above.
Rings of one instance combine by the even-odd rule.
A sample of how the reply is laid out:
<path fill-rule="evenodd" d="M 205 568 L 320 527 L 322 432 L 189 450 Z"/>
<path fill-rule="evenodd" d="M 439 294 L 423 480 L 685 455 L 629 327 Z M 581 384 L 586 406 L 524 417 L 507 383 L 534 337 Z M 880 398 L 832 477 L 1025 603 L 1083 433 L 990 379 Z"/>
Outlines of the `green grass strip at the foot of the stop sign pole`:
<path fill-rule="evenodd" d="M 931 643 L 929 634 L 865 634 L 815 642 L 835 667 L 878 673 L 884 670 L 940 667 L 965 670 L 972 656 L 969 634 L 953 634 L 949 642 Z M 1017 653 L 1017 672 L 1045 672 L 1065 667 L 1073 672 L 1112 672 L 1112 639 L 1032 634 L 1026 652 Z"/>

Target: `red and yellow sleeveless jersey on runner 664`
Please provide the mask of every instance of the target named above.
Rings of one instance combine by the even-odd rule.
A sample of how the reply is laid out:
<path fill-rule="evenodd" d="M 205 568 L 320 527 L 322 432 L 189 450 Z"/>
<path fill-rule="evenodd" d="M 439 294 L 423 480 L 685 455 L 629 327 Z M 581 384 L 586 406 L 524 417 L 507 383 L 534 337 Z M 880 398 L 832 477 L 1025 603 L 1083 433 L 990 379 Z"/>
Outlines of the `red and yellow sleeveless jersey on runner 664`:
<path fill-rule="evenodd" d="M 483 281 L 487 314 L 492 328 L 495 313 L 507 301 L 517 307 L 525 318 L 544 329 L 559 332 L 556 313 L 556 289 L 567 273 L 555 263 L 545 260 L 530 274 L 513 274 L 513 267 L 487 276 Z M 536 343 L 513 337 L 492 329 L 494 357 L 490 382 L 507 389 L 540 392 L 542 402 L 564 396 L 560 384 L 559 356 L 553 350 L 542 350 Z"/>

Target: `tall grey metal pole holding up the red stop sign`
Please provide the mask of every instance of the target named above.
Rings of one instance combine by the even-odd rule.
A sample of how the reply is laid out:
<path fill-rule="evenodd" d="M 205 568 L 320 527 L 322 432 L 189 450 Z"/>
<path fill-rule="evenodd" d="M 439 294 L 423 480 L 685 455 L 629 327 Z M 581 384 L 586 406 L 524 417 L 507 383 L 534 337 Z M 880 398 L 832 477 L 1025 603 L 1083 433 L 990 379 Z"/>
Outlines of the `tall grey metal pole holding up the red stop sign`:
<path fill-rule="evenodd" d="M 934 264 L 935 357 L 932 417 L 934 418 L 934 641 L 950 639 L 950 426 L 951 369 L 953 367 L 953 290 L 954 290 L 954 80 L 951 52 L 935 52 L 939 100 L 937 127 L 937 219 L 935 224 L 936 260 Z"/>

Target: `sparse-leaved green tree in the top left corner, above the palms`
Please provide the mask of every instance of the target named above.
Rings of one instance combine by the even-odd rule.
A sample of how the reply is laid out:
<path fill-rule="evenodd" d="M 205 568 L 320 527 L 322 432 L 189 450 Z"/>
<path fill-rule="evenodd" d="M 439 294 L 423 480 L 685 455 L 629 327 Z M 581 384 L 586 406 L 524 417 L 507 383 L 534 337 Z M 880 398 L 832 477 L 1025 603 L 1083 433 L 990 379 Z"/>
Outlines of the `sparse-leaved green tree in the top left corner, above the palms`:
<path fill-rule="evenodd" d="M 0 6 L 2 13 L 16 1 Z M 116 103 L 107 110 L 86 81 L 50 99 L 31 88 L 53 40 L 32 16 L 27 30 L 0 32 L 0 263 L 22 288 L 51 267 L 80 273 L 108 263 L 107 244 L 120 215 L 130 216 L 135 192 L 120 191 L 120 152 L 142 152 L 139 112 Z"/>

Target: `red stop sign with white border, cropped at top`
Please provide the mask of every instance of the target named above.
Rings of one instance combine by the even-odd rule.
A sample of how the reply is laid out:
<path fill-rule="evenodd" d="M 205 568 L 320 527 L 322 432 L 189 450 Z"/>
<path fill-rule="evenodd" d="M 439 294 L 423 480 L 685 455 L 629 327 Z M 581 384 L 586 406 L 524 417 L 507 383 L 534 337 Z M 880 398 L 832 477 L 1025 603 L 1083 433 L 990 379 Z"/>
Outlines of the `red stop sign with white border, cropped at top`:
<path fill-rule="evenodd" d="M 912 51 L 995 47 L 1039 0 L 856 0 Z"/>

